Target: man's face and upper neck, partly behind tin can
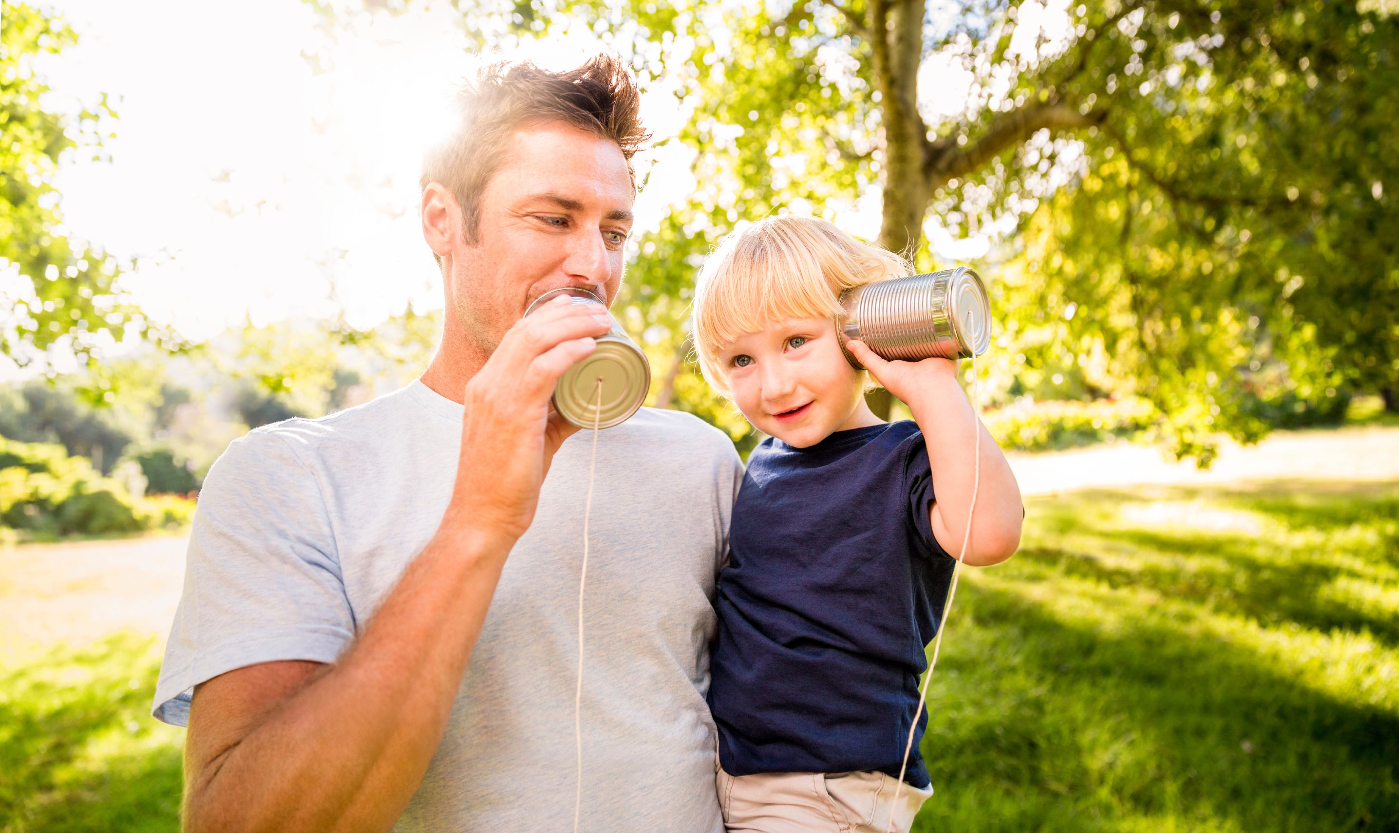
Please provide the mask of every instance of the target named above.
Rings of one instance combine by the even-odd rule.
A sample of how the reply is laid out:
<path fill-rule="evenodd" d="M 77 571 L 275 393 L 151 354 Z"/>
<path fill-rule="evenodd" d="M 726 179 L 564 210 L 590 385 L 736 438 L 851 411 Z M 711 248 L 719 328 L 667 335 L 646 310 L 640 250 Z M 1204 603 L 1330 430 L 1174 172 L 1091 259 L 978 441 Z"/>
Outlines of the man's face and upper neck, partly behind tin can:
<path fill-rule="evenodd" d="M 476 245 L 449 275 L 456 316 L 487 352 L 550 289 L 582 287 L 611 305 L 635 201 L 614 141 L 562 122 L 511 141 L 481 194 Z"/>

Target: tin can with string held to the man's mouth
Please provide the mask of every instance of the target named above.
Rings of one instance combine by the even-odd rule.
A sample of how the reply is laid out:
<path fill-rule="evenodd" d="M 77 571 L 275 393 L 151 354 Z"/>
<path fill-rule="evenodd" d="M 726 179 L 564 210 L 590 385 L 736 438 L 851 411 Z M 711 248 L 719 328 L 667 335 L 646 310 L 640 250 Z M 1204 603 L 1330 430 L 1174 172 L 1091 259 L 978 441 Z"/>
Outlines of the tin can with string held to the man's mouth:
<path fill-rule="evenodd" d="M 597 337 L 597 349 L 558 377 L 554 386 L 554 410 L 578 428 L 611 428 L 621 425 L 641 408 L 651 389 L 651 363 L 646 354 L 627 337 L 603 299 L 588 289 L 565 287 L 551 289 L 529 305 L 525 314 L 548 302 L 555 295 L 567 295 L 572 303 L 596 305 L 611 328 Z M 597 383 L 602 382 L 602 408 L 597 407 Z M 596 422 L 595 422 L 596 421 Z"/>

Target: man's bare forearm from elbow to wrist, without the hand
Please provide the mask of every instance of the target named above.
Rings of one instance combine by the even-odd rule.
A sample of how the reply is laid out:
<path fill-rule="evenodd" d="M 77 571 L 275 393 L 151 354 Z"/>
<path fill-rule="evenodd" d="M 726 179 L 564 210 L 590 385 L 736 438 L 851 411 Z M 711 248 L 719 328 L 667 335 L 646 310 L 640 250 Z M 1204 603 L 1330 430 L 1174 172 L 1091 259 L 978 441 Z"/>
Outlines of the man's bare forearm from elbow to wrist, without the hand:
<path fill-rule="evenodd" d="M 439 744 L 512 545 L 441 530 L 326 672 L 190 773 L 186 829 L 392 827 Z"/>

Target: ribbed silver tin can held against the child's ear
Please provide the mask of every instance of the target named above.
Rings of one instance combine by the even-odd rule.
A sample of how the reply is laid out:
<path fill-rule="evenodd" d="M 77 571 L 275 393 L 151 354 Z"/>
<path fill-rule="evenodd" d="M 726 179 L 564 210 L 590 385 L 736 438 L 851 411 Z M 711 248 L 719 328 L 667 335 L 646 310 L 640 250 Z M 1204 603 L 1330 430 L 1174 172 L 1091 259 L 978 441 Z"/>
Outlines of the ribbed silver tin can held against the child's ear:
<path fill-rule="evenodd" d="M 841 349 L 863 341 L 884 359 L 957 359 L 990 347 L 990 299 L 981 275 L 965 266 L 865 284 L 841 296 Z M 863 366 L 849 351 L 845 358 Z"/>

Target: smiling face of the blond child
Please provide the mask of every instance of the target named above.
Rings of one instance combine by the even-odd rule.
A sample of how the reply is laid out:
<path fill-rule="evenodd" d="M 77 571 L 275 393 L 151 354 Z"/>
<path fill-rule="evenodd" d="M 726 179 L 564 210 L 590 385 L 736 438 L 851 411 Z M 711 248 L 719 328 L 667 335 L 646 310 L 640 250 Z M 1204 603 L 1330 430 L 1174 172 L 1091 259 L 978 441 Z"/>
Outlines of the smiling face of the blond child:
<path fill-rule="evenodd" d="M 865 373 L 845 361 L 831 319 L 783 319 L 719 351 L 733 401 L 758 430 L 804 449 L 853 425 Z"/>

